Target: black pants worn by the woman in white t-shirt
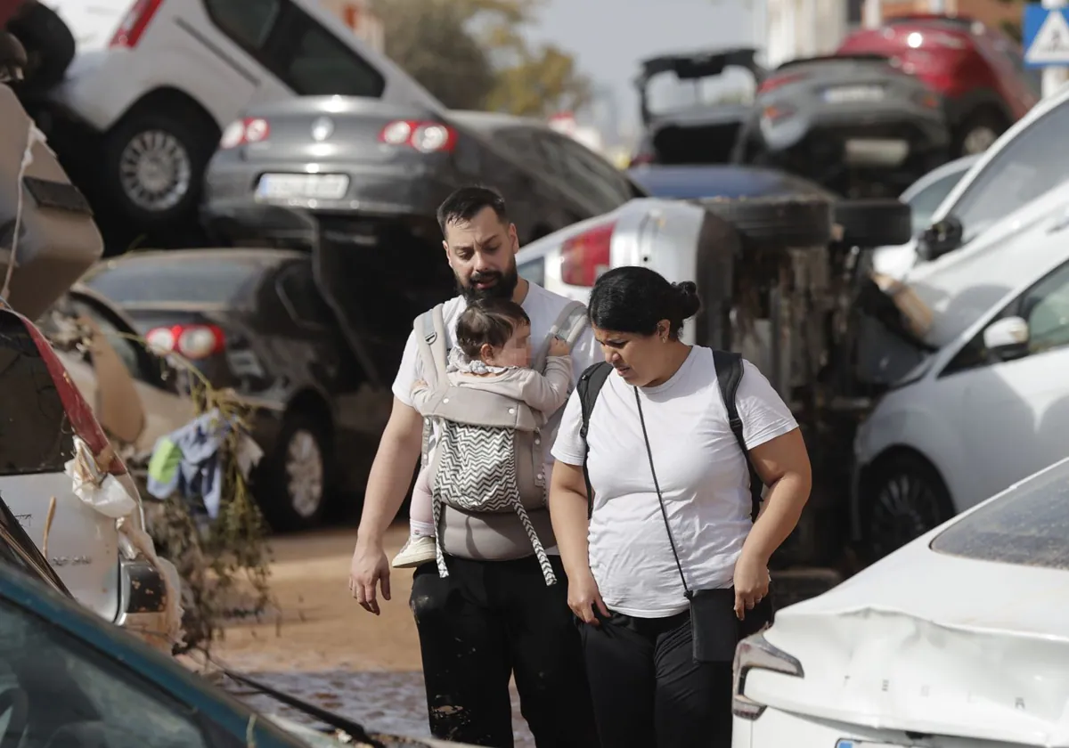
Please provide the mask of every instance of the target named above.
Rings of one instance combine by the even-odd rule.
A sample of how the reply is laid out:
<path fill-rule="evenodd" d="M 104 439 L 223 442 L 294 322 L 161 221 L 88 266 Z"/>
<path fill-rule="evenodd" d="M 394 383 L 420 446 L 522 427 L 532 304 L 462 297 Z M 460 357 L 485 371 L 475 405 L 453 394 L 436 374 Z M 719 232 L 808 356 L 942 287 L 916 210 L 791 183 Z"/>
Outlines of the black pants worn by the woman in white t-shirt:
<path fill-rule="evenodd" d="M 602 746 L 730 748 L 731 663 L 694 661 L 690 612 L 578 625 Z"/>

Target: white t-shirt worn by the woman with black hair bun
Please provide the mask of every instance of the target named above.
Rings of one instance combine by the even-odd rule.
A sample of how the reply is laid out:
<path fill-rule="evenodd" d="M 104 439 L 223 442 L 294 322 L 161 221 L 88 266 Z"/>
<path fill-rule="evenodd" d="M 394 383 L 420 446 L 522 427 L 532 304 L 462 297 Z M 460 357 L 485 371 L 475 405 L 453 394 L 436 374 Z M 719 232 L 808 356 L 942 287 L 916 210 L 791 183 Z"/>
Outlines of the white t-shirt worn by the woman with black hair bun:
<path fill-rule="evenodd" d="M 769 380 L 743 361 L 737 403 L 753 449 L 797 427 Z M 728 425 L 713 352 L 694 346 L 679 371 L 639 389 L 653 464 L 692 590 L 731 587 L 752 527 L 749 472 Z M 582 465 L 578 393 L 564 406 L 553 456 Z M 590 415 L 587 467 L 594 489 L 590 568 L 605 605 L 636 618 L 686 610 L 683 583 L 653 488 L 635 390 L 614 371 Z"/>

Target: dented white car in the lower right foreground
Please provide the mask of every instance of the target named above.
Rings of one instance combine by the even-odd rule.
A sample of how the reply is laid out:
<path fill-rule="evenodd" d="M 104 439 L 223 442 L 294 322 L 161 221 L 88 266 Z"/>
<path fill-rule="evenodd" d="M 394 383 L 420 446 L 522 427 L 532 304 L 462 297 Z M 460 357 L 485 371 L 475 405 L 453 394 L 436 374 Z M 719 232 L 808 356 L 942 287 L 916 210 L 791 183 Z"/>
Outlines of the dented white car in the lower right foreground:
<path fill-rule="evenodd" d="M 779 611 L 735 652 L 732 745 L 1069 744 L 1067 527 L 1063 459 Z"/>

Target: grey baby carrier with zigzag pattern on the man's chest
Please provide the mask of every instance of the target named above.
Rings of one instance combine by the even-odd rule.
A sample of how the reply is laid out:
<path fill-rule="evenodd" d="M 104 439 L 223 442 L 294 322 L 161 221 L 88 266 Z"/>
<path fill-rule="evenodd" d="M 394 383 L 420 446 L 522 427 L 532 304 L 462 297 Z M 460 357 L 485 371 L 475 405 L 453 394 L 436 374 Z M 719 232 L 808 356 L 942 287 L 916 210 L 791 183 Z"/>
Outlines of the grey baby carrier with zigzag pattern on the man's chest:
<path fill-rule="evenodd" d="M 571 349 L 585 328 L 586 307 L 569 302 L 534 350 L 531 369 L 543 371 L 554 337 L 564 340 Z M 462 512 L 515 512 L 534 548 L 546 585 L 555 583 L 545 548 L 528 515 L 546 505 L 541 430 L 553 414 L 539 414 L 526 403 L 502 394 L 450 384 L 441 305 L 417 317 L 415 331 L 421 375 L 433 393 L 423 412 L 423 465 L 428 464 L 432 422 L 440 428 L 430 457 L 438 573 L 449 576 L 440 541 L 446 504 Z"/>

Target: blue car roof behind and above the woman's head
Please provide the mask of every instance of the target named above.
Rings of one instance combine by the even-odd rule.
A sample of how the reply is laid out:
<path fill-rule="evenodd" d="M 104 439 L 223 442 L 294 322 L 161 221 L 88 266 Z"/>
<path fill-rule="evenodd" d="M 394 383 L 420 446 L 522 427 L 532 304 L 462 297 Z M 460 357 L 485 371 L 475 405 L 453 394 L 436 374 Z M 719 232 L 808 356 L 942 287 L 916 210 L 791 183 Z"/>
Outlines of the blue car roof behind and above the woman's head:
<path fill-rule="evenodd" d="M 785 194 L 836 197 L 815 182 L 776 169 L 740 165 L 640 166 L 628 175 L 655 198 L 759 198 Z"/>

